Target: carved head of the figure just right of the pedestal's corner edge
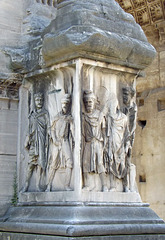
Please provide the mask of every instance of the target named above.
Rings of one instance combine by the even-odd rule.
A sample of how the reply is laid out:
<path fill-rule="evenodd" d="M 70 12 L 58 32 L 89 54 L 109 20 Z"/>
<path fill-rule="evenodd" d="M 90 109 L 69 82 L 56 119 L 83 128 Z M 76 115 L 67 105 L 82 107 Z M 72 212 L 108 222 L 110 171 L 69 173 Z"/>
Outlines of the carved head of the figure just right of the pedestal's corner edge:
<path fill-rule="evenodd" d="M 96 96 L 91 90 L 85 90 L 83 95 L 85 110 L 88 113 L 93 112 L 96 103 Z"/>

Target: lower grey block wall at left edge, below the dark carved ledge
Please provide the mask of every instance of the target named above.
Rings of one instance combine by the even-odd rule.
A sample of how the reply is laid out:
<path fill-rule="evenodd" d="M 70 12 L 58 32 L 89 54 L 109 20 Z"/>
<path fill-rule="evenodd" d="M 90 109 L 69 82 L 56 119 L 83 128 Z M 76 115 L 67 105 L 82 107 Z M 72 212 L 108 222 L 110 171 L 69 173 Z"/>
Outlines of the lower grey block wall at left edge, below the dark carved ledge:
<path fill-rule="evenodd" d="M 0 98 L 0 215 L 13 197 L 16 171 L 18 100 Z"/>

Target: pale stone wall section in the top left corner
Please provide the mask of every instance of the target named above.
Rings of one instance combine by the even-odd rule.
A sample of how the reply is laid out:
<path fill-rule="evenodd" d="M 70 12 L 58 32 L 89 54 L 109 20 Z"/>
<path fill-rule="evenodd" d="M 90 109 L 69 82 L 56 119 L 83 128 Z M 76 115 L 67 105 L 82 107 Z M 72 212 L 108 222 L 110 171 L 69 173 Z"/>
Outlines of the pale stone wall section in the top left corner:
<path fill-rule="evenodd" d="M 10 73 L 4 47 L 19 47 L 23 1 L 2 0 L 0 6 L 0 73 Z"/>

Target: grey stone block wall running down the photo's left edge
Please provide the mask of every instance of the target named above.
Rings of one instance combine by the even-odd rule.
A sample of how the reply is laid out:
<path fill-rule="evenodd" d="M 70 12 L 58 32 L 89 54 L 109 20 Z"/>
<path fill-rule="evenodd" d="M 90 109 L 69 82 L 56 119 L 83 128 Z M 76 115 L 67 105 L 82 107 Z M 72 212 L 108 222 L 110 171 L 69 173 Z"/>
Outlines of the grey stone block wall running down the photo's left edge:
<path fill-rule="evenodd" d="M 12 71 L 7 49 L 19 47 L 22 9 L 22 0 L 0 2 L 0 215 L 5 213 L 11 202 L 16 170 L 18 100 L 7 97 L 10 94 L 6 90 L 12 90 L 9 87 Z"/>

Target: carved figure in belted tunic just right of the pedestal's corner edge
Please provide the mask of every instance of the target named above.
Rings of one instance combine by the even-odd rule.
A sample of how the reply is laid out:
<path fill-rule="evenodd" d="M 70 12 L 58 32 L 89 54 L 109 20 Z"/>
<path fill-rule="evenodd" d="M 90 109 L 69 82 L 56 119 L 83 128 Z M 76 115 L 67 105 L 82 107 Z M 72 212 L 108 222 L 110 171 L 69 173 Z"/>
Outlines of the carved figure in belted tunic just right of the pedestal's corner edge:
<path fill-rule="evenodd" d="M 90 91 L 84 91 L 83 102 L 83 176 L 84 190 L 93 190 L 90 187 L 89 173 L 98 173 L 101 180 L 102 191 L 108 191 L 106 184 L 105 166 L 103 162 L 103 148 L 105 137 L 105 117 L 96 109 L 96 96 Z"/>

